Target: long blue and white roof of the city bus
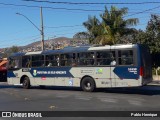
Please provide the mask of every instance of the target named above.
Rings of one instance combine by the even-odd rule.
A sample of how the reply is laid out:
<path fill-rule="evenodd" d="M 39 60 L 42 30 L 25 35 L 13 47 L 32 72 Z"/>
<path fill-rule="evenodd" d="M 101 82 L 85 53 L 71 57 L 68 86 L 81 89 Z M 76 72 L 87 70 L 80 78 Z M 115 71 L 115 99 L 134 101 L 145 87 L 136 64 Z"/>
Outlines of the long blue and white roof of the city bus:
<path fill-rule="evenodd" d="M 37 51 L 37 52 L 27 52 L 27 53 L 13 53 L 11 56 L 24 56 L 24 55 L 38 55 L 38 54 L 60 54 L 60 53 L 72 53 L 72 52 L 86 52 L 94 50 L 107 50 L 107 49 L 127 49 L 136 48 L 138 44 L 116 44 L 116 45 L 106 45 L 106 46 L 76 46 L 76 47 L 66 47 L 60 50 L 47 50 L 47 51 Z"/>

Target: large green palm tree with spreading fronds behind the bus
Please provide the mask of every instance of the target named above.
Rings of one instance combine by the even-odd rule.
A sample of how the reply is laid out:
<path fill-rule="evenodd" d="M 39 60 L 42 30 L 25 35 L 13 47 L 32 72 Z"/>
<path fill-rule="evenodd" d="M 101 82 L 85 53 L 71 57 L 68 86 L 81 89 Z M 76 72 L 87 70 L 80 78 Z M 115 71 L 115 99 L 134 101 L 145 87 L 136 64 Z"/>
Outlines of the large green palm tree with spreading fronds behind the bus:
<path fill-rule="evenodd" d="M 95 16 L 89 16 L 88 21 L 84 22 L 83 25 L 87 28 L 90 35 L 94 37 L 94 40 L 91 42 L 112 45 L 118 43 L 121 36 L 133 32 L 129 27 L 136 25 L 138 19 L 124 19 L 124 15 L 127 13 L 127 8 L 118 9 L 111 6 L 110 11 L 105 7 L 104 13 L 100 15 L 101 22 Z"/>

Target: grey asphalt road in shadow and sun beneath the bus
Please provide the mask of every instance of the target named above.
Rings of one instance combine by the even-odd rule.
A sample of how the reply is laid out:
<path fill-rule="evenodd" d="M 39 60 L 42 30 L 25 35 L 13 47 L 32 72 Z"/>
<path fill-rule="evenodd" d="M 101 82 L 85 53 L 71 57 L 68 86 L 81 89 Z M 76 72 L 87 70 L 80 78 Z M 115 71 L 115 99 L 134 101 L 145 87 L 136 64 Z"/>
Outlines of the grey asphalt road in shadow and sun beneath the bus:
<path fill-rule="evenodd" d="M 160 86 L 88 93 L 79 88 L 23 89 L 0 83 L 0 111 L 160 111 Z"/>

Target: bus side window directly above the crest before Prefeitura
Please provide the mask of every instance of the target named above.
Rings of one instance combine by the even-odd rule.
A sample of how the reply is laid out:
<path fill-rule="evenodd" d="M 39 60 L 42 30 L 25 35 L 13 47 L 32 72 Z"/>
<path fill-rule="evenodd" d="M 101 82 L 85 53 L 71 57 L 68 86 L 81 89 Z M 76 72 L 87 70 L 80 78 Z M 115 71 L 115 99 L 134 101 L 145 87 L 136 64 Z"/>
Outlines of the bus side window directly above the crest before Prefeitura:
<path fill-rule="evenodd" d="M 32 56 L 32 67 L 44 67 L 44 56 L 43 55 Z"/>

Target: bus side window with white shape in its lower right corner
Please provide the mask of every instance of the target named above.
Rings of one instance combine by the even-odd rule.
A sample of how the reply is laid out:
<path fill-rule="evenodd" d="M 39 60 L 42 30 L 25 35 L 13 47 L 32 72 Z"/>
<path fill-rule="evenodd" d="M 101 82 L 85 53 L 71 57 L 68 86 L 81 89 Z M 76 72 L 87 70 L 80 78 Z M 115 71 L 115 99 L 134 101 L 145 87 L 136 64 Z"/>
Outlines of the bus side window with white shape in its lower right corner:
<path fill-rule="evenodd" d="M 99 51 L 97 55 L 97 65 L 116 65 L 115 51 Z"/>

